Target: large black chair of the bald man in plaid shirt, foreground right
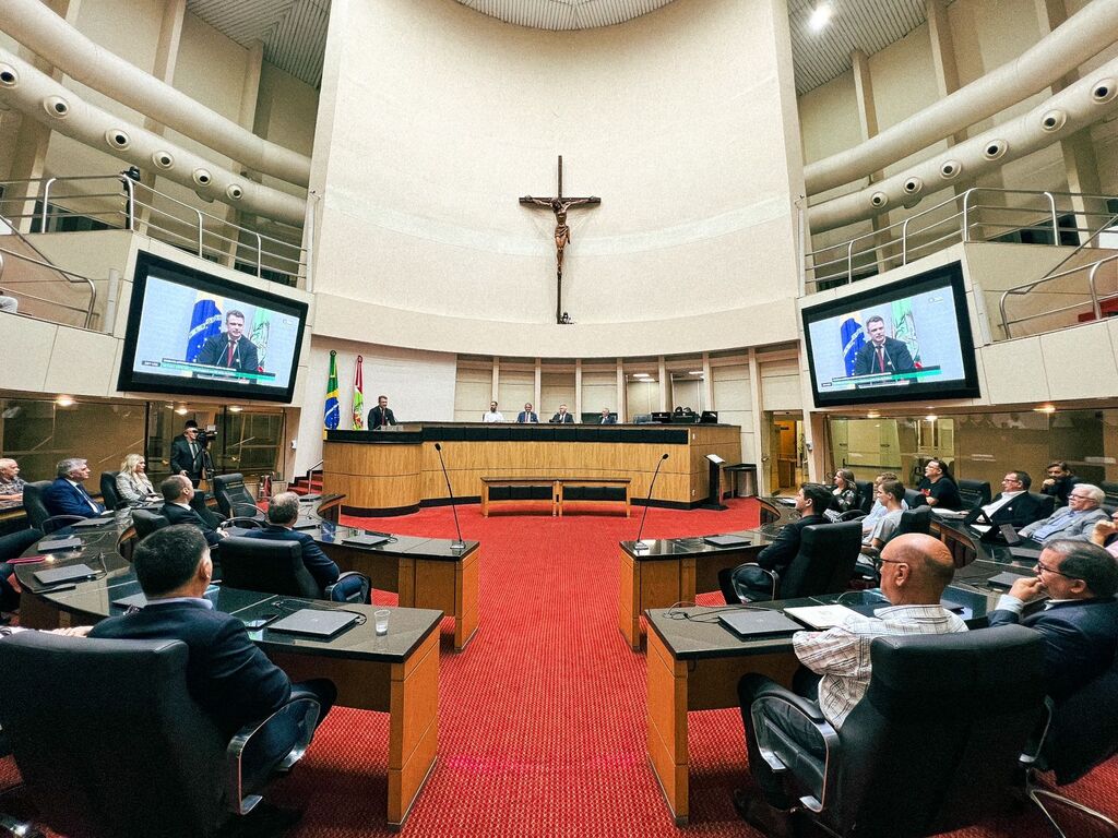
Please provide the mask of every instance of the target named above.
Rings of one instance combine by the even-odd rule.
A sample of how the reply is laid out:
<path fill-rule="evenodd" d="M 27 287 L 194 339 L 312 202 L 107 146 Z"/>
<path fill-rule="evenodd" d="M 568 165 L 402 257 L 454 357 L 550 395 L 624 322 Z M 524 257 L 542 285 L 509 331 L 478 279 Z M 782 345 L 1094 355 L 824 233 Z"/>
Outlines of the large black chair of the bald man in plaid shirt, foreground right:
<path fill-rule="evenodd" d="M 1012 806 L 1017 759 L 1043 710 L 1040 635 L 1003 626 L 881 637 L 870 655 L 869 691 L 840 731 L 771 682 L 750 707 L 762 758 L 806 816 L 834 836 L 921 838 Z M 766 710 L 779 704 L 818 730 L 825 759 L 769 723 Z"/>

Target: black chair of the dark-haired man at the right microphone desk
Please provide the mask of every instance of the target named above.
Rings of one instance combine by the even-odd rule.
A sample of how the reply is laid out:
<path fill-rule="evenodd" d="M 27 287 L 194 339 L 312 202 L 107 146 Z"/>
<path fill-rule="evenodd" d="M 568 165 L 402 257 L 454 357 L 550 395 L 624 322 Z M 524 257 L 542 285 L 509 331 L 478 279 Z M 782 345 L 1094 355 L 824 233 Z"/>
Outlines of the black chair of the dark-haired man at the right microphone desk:
<path fill-rule="evenodd" d="M 850 583 L 861 546 L 862 525 L 856 521 L 812 524 L 800 531 L 799 552 L 783 578 L 756 562 L 746 562 L 730 573 L 730 584 L 740 602 L 840 593 Z M 727 601 L 733 602 L 729 597 Z"/>

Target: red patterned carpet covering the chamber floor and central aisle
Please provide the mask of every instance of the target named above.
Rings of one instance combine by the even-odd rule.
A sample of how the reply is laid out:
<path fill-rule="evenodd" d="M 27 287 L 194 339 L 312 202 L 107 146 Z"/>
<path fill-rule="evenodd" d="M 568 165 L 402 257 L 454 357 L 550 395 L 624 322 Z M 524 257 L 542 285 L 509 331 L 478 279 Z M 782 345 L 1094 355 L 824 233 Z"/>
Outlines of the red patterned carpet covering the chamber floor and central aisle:
<path fill-rule="evenodd" d="M 691 714 L 686 829 L 673 826 L 645 759 L 644 656 L 629 651 L 617 629 L 617 542 L 634 536 L 639 510 L 632 520 L 590 512 L 485 520 L 476 505 L 458 512 L 464 536 L 482 542 L 481 627 L 455 654 L 453 623 L 444 623 L 438 762 L 406 835 L 756 836 L 730 803 L 731 790 L 748 783 L 736 710 Z M 447 507 L 366 523 L 454 535 Z M 721 513 L 653 508 L 645 534 L 699 535 L 756 523 L 750 501 L 731 502 Z M 330 714 L 307 756 L 268 796 L 305 809 L 293 838 L 390 835 L 387 722 L 387 715 L 344 707 Z M 1118 815 L 1116 790 L 1111 762 L 1070 793 Z M 1063 820 L 1071 836 L 1105 835 L 1073 815 Z M 1040 816 L 1025 810 L 955 838 L 1048 835 Z"/>

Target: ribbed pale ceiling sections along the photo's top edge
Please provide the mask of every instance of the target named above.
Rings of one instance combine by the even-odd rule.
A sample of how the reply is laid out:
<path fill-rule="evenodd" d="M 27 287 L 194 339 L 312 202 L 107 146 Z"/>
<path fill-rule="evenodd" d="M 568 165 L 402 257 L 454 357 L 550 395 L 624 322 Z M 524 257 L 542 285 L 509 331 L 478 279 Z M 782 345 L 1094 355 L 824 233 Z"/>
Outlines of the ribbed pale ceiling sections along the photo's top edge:
<path fill-rule="evenodd" d="M 671 1 L 457 0 L 509 23 L 551 31 L 623 23 Z M 925 0 L 830 1 L 831 22 L 822 32 L 813 32 L 807 19 L 819 0 L 788 0 L 799 94 L 850 69 L 852 50 L 873 55 L 925 22 Z M 187 0 L 187 8 L 243 46 L 263 41 L 264 58 L 276 67 L 315 87 L 322 80 L 330 0 Z"/>

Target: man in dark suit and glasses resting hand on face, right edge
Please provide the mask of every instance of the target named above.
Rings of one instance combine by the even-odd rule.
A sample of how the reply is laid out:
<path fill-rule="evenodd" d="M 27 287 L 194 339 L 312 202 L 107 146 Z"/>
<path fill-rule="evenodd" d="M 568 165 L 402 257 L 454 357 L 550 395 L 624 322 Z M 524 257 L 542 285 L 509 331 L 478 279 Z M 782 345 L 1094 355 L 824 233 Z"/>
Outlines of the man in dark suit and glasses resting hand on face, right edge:
<path fill-rule="evenodd" d="M 1018 579 L 989 615 L 991 626 L 1020 622 L 1044 636 L 1048 694 L 1060 701 L 1110 668 L 1118 651 L 1118 560 L 1097 544 L 1058 539 L 1044 545 L 1036 575 Z M 1046 593 L 1044 610 L 1022 617 Z"/>

